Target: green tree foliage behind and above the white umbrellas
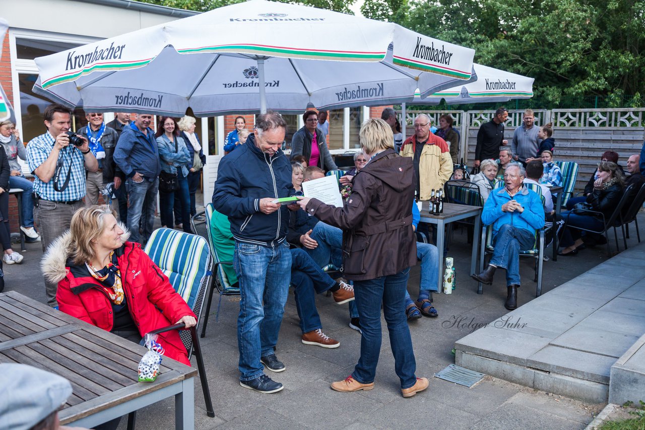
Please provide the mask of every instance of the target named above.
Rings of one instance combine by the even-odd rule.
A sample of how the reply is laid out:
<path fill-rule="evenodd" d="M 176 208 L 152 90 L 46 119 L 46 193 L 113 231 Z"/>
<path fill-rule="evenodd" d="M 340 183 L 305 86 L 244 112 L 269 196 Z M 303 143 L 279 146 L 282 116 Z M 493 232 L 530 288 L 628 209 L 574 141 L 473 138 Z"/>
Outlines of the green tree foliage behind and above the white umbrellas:
<path fill-rule="evenodd" d="M 143 1 L 203 12 L 243 0 Z M 349 14 L 355 3 L 278 1 Z M 645 0 L 364 0 L 361 12 L 473 48 L 477 63 L 533 77 L 548 104 L 577 95 L 644 103 Z"/>

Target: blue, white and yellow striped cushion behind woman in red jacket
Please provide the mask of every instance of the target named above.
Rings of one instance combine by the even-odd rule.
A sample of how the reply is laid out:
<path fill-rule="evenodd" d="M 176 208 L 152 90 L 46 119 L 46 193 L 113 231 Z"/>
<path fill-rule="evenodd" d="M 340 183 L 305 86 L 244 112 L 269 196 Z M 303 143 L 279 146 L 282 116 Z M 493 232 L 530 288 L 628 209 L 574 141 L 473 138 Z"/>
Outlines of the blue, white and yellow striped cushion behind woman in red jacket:
<path fill-rule="evenodd" d="M 183 231 L 160 228 L 152 232 L 145 252 L 192 309 L 199 286 L 208 276 L 210 267 L 211 257 L 206 239 Z"/>

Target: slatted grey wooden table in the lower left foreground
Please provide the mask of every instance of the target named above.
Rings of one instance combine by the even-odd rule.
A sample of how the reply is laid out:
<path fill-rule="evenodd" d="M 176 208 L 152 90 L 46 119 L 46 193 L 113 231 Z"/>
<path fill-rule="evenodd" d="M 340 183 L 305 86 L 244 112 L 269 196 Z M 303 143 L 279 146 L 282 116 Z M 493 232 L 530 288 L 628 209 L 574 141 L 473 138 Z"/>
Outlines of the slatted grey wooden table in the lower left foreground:
<path fill-rule="evenodd" d="M 175 396 L 175 428 L 193 429 L 197 371 L 163 358 L 155 382 L 137 382 L 145 352 L 143 346 L 15 291 L 0 294 L 0 362 L 67 378 L 74 391 L 59 411 L 63 425 L 92 428 Z"/>

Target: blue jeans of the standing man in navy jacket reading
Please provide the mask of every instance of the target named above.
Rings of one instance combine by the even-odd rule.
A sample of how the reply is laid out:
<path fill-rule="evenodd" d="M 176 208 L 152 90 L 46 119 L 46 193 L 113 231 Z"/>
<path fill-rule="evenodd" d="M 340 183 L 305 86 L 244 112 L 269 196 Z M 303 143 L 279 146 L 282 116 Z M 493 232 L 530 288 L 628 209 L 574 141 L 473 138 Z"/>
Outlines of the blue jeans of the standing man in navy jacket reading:
<path fill-rule="evenodd" d="M 272 355 L 278 341 L 289 292 L 289 245 L 286 240 L 276 248 L 235 242 L 233 266 L 240 286 L 240 380 L 249 381 L 264 375 L 260 357 Z"/>

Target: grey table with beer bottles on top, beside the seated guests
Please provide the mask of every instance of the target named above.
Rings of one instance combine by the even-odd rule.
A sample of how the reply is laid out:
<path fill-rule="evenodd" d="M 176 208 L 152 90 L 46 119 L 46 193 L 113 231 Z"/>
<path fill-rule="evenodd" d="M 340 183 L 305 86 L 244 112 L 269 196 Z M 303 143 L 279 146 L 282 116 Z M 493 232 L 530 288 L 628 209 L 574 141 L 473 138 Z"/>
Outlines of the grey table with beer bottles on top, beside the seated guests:
<path fill-rule="evenodd" d="M 446 225 L 453 221 L 475 217 L 475 234 L 473 234 L 473 255 L 470 259 L 470 275 L 475 273 L 477 268 L 477 251 L 479 251 L 479 232 L 481 232 L 481 211 L 480 206 L 468 206 L 467 204 L 445 203 L 444 211 L 438 215 L 430 213 L 430 204 L 427 201 L 422 202 L 421 207 L 421 221 L 437 225 L 437 249 L 439 255 L 443 255 L 444 249 L 444 234 L 446 233 Z M 437 279 L 437 286 L 439 292 L 442 291 L 444 272 L 444 259 L 439 259 L 439 279 Z"/>

